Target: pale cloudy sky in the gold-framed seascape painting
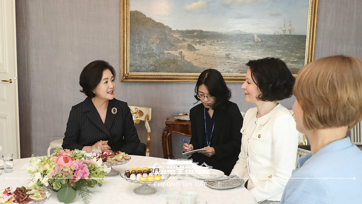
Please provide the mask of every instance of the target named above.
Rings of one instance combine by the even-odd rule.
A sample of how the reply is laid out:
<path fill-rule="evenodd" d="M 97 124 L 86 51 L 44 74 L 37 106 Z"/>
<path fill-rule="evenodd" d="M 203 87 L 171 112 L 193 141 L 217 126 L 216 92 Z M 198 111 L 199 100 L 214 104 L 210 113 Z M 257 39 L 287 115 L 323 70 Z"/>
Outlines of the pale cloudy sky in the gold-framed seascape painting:
<path fill-rule="evenodd" d="M 130 0 L 130 10 L 172 29 L 273 34 L 291 22 L 306 34 L 308 0 Z"/>

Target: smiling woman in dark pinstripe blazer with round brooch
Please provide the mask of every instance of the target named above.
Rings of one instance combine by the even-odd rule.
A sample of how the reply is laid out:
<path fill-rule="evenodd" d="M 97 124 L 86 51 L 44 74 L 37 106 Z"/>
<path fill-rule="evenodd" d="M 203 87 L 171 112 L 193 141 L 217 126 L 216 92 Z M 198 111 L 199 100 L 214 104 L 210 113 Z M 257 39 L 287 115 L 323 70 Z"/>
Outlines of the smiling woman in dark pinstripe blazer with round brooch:
<path fill-rule="evenodd" d="M 84 67 L 79 77 L 87 98 L 72 107 L 64 133 L 64 149 L 92 152 L 122 151 L 132 154 L 140 140 L 126 102 L 114 98 L 115 71 L 106 61 L 96 60 Z"/>

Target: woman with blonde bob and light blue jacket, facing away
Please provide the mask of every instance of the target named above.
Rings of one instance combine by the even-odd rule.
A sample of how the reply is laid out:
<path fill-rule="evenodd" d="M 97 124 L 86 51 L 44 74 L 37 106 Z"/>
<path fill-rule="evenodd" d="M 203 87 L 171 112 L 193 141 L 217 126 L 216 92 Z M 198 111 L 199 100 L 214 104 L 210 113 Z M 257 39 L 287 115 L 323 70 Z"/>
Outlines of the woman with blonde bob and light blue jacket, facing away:
<path fill-rule="evenodd" d="M 313 61 L 300 70 L 293 93 L 296 128 L 308 135 L 311 154 L 298 159 L 281 203 L 361 203 L 362 151 L 346 133 L 362 120 L 362 61 Z"/>

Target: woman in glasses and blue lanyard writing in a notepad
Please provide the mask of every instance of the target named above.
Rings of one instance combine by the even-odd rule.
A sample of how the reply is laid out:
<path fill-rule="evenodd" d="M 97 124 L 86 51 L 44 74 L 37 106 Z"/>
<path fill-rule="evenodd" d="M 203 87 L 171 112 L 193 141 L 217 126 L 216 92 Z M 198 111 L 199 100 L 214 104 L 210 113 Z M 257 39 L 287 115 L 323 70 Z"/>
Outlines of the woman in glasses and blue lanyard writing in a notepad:
<path fill-rule="evenodd" d="M 229 175 L 240 152 L 243 117 L 239 107 L 230 102 L 231 91 L 215 69 L 203 71 L 196 83 L 195 98 L 201 101 L 190 110 L 191 140 L 185 152 L 204 148 L 191 155 L 193 162 L 204 162 Z"/>

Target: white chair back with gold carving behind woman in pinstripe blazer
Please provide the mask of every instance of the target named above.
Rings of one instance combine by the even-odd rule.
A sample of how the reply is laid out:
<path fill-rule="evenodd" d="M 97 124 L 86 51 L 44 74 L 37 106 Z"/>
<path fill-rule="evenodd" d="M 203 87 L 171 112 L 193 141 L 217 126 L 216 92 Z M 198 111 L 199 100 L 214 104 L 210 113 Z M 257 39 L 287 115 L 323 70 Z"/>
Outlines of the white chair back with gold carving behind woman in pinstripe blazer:
<path fill-rule="evenodd" d="M 144 125 L 147 129 L 147 145 L 146 145 L 146 156 L 150 156 L 150 141 L 151 141 L 151 128 L 148 121 L 151 121 L 151 108 L 142 106 L 129 106 L 135 124 L 140 121 L 144 121 Z"/>

